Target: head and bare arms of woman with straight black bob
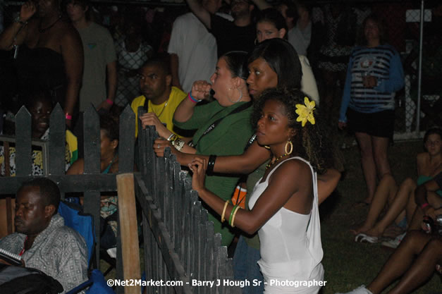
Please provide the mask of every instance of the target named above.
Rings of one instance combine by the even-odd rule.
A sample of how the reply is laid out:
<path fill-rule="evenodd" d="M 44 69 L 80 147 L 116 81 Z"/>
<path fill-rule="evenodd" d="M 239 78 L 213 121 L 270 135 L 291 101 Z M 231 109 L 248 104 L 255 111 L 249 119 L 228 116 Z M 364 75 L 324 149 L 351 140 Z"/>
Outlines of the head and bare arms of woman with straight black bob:
<path fill-rule="evenodd" d="M 257 99 L 262 91 L 271 87 L 300 87 L 301 65 L 295 49 L 283 39 L 269 39 L 255 47 L 247 61 L 249 68 L 249 93 Z M 198 89 L 199 95 L 209 94 L 209 87 Z M 160 147 L 160 148 L 158 148 Z M 164 149 L 171 147 L 181 165 L 187 165 L 195 158 L 194 154 L 178 152 L 171 144 L 159 138 L 155 140 L 154 151 L 162 157 Z M 202 155 L 198 155 L 202 157 Z M 250 147 L 238 156 L 218 157 L 214 165 L 215 173 L 243 173 L 249 174 L 259 166 L 266 163 L 271 157 L 268 149 L 253 142 Z M 205 156 L 209 159 L 209 156 Z M 338 185 L 340 173 L 335 169 L 329 169 L 319 177 L 319 203 L 323 202 Z"/>

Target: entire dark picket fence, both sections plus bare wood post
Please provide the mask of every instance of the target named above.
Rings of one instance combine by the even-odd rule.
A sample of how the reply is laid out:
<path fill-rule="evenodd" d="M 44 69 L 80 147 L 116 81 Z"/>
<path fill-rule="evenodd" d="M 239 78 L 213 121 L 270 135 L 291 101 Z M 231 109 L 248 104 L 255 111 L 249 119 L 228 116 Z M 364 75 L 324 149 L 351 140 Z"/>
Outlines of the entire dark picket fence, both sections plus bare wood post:
<path fill-rule="evenodd" d="M 214 234 L 213 223 L 207 221 L 207 210 L 202 208 L 197 192 L 191 189 L 190 178 L 180 171 L 180 164 L 170 150 L 166 150 L 164 158 L 155 156 L 152 146 L 158 135 L 154 127 L 139 133 L 140 172 L 133 173 L 135 114 L 127 106 L 120 116 L 119 175 L 102 174 L 99 116 L 91 106 L 84 114 L 85 174 L 66 176 L 64 120 L 63 110 L 57 105 L 50 117 L 44 175 L 59 185 L 62 197 L 67 192 L 85 195 L 84 210 L 94 216 L 96 232 L 99 232 L 100 192 L 118 191 L 116 278 L 139 277 L 136 272 L 140 271 L 140 259 L 130 259 L 137 256 L 131 252 L 134 244 L 138 247 L 136 196 L 142 209 L 146 280 L 162 280 L 165 285 L 178 281 L 175 286 L 147 286 L 147 293 L 240 293 L 239 288 L 223 286 L 224 281 L 233 281 L 233 262 L 227 257 L 227 248 L 221 246 L 221 235 Z M 25 180 L 32 178 L 31 116 L 24 106 L 16 115 L 15 141 L 16 176 L 0 177 L 0 197 L 14 195 Z M 131 195 L 134 188 L 135 196 Z M 94 267 L 99 266 L 99 234 L 96 238 Z M 214 285 L 220 281 L 221 286 L 192 286 L 192 280 L 214 281 Z M 116 293 L 139 291 L 139 287 L 116 288 Z"/>

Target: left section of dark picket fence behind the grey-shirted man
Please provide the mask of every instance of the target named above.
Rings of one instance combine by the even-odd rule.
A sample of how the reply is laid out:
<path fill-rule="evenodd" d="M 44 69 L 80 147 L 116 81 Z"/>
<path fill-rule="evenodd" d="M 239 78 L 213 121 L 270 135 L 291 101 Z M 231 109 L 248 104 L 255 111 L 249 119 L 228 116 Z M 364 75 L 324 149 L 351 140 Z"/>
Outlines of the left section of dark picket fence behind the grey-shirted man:
<path fill-rule="evenodd" d="M 91 106 L 84 114 L 84 134 L 87 140 L 84 142 L 85 174 L 65 175 L 66 156 L 66 125 L 63 110 L 57 104 L 51 113 L 49 122 L 49 140 L 47 141 L 47 156 L 43 166 L 44 175 L 54 180 L 59 185 L 64 198 L 65 193 L 79 192 L 84 197 L 84 211 L 94 216 L 94 227 L 97 246 L 95 260 L 92 267 L 99 267 L 99 216 L 100 216 L 100 192 L 117 191 L 116 174 L 102 174 L 100 171 L 100 129 L 99 115 Z M 118 145 L 118 157 L 125 160 L 118 162 L 119 173 L 133 173 L 134 145 L 135 145 L 135 114 L 130 107 L 126 107 L 120 116 L 120 137 Z M 10 140 L 9 140 L 10 141 Z M 31 139 L 31 115 L 23 106 L 16 115 L 16 176 L 0 177 L 0 197 L 15 195 L 20 185 L 32 178 L 32 139 Z M 8 197 L 6 197 L 8 201 Z M 11 205 L 6 205 L 11 212 Z M 10 214 L 10 213 L 8 213 Z M 13 215 L 8 216 L 8 223 L 12 222 Z M 118 234 L 120 232 L 118 231 Z M 116 278 L 123 278 L 123 261 L 121 258 L 121 238 L 117 244 Z M 123 293 L 125 289 L 117 288 L 117 293 Z"/>

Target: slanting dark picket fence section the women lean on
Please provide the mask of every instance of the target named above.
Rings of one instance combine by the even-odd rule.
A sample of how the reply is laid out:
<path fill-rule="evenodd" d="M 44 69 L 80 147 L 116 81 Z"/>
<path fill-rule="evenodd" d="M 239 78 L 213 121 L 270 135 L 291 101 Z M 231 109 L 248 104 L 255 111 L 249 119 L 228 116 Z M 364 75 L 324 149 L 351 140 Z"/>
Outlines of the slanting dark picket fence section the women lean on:
<path fill-rule="evenodd" d="M 143 212 L 145 273 L 147 281 L 182 281 L 183 286 L 150 287 L 147 293 L 240 293 L 240 288 L 223 286 L 233 281 L 233 260 L 175 155 L 166 149 L 164 158 L 155 156 L 156 137 L 154 127 L 138 137 L 135 195 Z M 192 284 L 202 281 L 221 286 Z"/>

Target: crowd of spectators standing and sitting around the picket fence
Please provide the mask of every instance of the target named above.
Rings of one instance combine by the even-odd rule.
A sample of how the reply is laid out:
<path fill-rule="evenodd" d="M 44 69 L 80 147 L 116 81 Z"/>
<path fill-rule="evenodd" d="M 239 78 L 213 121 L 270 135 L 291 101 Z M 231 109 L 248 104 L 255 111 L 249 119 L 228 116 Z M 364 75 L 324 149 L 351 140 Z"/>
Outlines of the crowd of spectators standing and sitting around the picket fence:
<path fill-rule="evenodd" d="M 386 245 L 398 247 L 374 281 L 352 293 L 381 293 L 397 278 L 391 291 L 410 293 L 440 271 L 441 235 L 433 223 L 442 214 L 442 130 L 426 132 L 419 178 L 398 187 L 387 150 L 404 71 L 376 9 L 186 1 L 190 12 L 176 18 L 168 41 L 161 39 L 167 52 L 146 42 L 149 13 L 140 18 L 128 10 L 133 18 L 127 14 L 109 31 L 87 0 L 23 4 L 1 32 L 0 49 L 13 53 L 18 104 L 30 110 L 32 137 L 47 138 L 49 114 L 60 103 L 66 173 L 84 173 L 82 114 L 92 105 L 100 114 L 100 172 L 118 173 L 118 113 L 130 104 L 135 137 L 140 126 L 155 126 L 156 155 L 171 148 L 222 244 L 235 244 L 235 278 L 259 281 L 243 293 L 318 293 L 321 285 L 272 281 L 324 280 L 319 204 L 340 179 L 331 125 L 346 128 L 360 148 L 362 204 L 369 206 L 367 219 L 351 230 L 355 241 L 388 236 Z M 339 106 L 337 119 L 332 109 Z M 13 154 L 0 149 L 2 176 L 13 176 Z M 32 169 L 43 175 L 41 162 Z M 243 207 L 232 199 L 238 185 L 247 190 Z M 25 183 L 16 194 L 16 233 L 1 238 L 0 248 L 56 278 L 66 292 L 84 281 L 87 262 L 82 237 L 57 214 L 59 198 L 50 180 Z M 116 246 L 117 202 L 102 195 L 104 249 Z M 47 259 L 48 248 L 54 258 Z"/>

